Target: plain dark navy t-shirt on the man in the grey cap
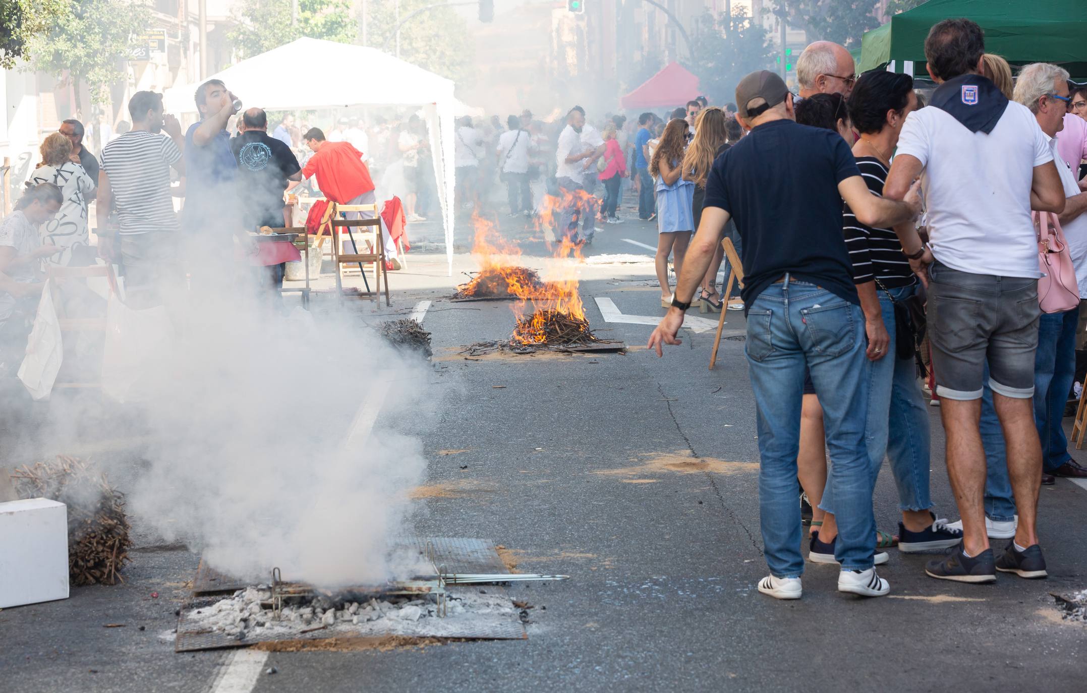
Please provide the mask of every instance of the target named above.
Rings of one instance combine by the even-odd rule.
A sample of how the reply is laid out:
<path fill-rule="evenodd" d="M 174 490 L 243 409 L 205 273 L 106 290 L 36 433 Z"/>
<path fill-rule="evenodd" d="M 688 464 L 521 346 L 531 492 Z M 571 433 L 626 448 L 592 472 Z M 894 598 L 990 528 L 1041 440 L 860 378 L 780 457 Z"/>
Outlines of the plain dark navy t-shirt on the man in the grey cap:
<path fill-rule="evenodd" d="M 745 306 L 787 272 L 860 303 L 838 192 L 839 182 L 860 175 L 840 135 L 789 119 L 757 126 L 717 156 L 705 181 L 705 206 L 736 220 Z"/>

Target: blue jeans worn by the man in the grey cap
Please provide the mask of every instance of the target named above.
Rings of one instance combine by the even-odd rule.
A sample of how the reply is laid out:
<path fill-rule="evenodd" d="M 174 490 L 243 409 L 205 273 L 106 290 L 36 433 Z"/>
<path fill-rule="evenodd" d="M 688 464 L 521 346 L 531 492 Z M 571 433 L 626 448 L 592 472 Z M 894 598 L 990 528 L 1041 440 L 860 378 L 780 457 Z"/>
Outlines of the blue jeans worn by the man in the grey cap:
<path fill-rule="evenodd" d="M 872 567 L 875 517 L 872 474 L 864 440 L 867 379 L 864 317 L 848 303 L 814 285 L 792 281 L 763 290 L 748 311 L 747 352 L 758 412 L 759 515 L 770 572 L 795 578 L 803 572 L 797 452 L 804 366 L 824 394 L 826 443 L 835 459 L 830 472 L 838 505 L 835 557 L 842 569 Z"/>

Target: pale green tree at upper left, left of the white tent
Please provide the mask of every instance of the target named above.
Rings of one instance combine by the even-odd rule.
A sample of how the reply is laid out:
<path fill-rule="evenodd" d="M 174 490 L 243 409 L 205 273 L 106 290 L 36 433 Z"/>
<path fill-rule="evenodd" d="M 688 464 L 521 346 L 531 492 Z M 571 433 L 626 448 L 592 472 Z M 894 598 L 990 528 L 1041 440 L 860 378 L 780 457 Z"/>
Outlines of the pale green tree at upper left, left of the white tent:
<path fill-rule="evenodd" d="M 107 103 L 110 87 L 125 78 L 122 68 L 147 30 L 147 7 L 139 0 L 68 0 L 49 30 L 27 40 L 36 70 L 78 85 L 85 81 L 93 103 Z M 76 106 L 82 110 L 79 89 Z"/>

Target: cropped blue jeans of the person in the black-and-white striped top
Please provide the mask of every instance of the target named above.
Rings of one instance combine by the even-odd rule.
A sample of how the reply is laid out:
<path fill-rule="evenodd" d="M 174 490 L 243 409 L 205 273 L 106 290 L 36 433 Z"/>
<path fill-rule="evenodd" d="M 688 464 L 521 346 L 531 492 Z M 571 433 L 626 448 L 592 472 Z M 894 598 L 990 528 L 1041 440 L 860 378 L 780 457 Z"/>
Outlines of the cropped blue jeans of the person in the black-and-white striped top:
<path fill-rule="evenodd" d="M 890 294 L 896 301 L 904 301 L 916 291 L 914 285 L 891 289 Z M 917 385 L 917 368 L 913 358 L 899 358 L 895 350 L 895 305 L 886 291 L 878 290 L 876 293 L 890 342 L 883 358 L 865 360 L 869 378 L 865 429 L 872 483 L 875 484 L 884 456 L 887 456 L 895 475 L 895 486 L 898 487 L 899 509 L 926 511 L 933 506 L 928 495 L 928 413 Z M 833 455 L 830 459 L 833 469 L 837 462 Z M 835 512 L 834 488 L 829 479 L 820 507 L 827 513 Z"/>

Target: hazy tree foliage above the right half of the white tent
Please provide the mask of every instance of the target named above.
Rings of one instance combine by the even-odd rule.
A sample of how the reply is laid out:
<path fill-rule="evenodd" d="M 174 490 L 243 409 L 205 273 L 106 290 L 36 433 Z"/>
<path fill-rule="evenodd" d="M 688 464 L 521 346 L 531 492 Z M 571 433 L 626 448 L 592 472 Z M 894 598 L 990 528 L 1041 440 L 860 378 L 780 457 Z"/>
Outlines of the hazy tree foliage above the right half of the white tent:
<path fill-rule="evenodd" d="M 400 0 L 400 20 L 435 0 Z M 396 54 L 396 2 L 370 0 L 366 34 L 370 45 Z M 474 47 L 467 24 L 452 8 L 435 8 L 408 20 L 400 28 L 400 58 L 459 84 L 472 76 Z"/>

